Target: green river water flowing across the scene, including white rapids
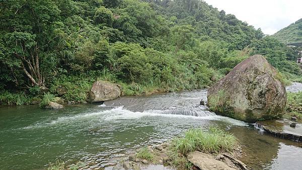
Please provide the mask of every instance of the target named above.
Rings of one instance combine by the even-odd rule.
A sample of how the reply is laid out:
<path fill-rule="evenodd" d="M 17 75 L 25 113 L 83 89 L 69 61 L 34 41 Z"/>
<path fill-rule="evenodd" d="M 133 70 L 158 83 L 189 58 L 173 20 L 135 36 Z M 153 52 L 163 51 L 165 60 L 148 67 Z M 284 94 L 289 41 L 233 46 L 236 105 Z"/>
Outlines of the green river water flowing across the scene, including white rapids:
<path fill-rule="evenodd" d="M 189 128 L 218 125 L 243 145 L 253 169 L 301 169 L 300 143 L 266 135 L 252 124 L 200 106 L 206 90 L 122 97 L 61 110 L 0 107 L 0 169 L 41 169 L 49 161 L 96 160 L 108 166 L 129 150 L 157 144 Z"/>

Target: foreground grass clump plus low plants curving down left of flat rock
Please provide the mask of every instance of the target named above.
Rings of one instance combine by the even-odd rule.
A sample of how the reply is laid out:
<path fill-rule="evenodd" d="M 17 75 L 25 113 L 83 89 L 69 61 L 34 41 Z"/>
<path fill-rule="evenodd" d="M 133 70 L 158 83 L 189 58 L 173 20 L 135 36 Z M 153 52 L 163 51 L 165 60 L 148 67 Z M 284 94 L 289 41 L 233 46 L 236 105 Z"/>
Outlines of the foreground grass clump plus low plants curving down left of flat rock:
<path fill-rule="evenodd" d="M 187 153 L 195 150 L 205 153 L 233 152 L 237 144 L 235 136 L 216 126 L 210 126 L 208 131 L 190 129 L 184 137 L 172 140 L 168 155 L 175 167 L 191 169 L 192 163 L 187 160 Z"/>

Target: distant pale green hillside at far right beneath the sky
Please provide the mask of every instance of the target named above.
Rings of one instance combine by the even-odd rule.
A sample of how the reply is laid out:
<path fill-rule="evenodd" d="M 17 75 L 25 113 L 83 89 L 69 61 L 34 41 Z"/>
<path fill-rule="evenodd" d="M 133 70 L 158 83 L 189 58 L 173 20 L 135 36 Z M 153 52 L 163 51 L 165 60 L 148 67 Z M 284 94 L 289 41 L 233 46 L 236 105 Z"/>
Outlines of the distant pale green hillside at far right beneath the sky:
<path fill-rule="evenodd" d="M 282 43 L 302 43 L 302 18 L 273 35 Z"/>

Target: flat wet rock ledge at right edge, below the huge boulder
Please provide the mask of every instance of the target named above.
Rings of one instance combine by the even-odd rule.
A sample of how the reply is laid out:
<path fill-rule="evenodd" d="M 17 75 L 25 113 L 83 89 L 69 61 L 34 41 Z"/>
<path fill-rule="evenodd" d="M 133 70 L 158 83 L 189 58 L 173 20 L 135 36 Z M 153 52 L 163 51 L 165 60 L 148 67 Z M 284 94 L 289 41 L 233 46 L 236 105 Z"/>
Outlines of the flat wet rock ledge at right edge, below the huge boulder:
<path fill-rule="evenodd" d="M 302 123 L 289 120 L 258 121 L 255 127 L 282 139 L 302 142 Z"/>

